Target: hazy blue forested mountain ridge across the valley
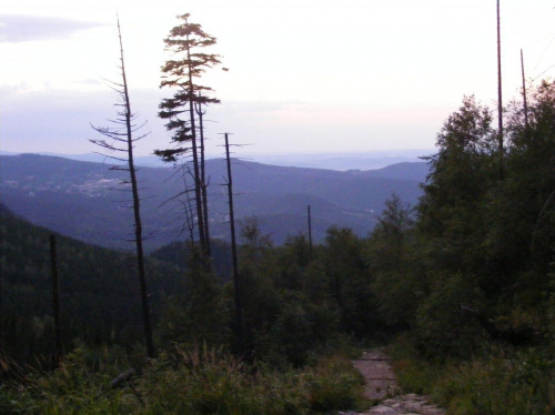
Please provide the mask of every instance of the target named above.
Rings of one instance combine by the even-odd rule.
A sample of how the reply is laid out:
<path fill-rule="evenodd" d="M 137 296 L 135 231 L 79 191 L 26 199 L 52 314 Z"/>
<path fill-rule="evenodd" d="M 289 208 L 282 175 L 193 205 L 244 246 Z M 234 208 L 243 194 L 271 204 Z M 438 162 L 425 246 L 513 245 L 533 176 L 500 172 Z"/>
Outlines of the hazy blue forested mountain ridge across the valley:
<path fill-rule="evenodd" d="M 122 172 L 102 163 L 21 154 L 1 155 L 2 202 L 16 214 L 62 234 L 108 247 L 131 249 L 130 198 L 118 182 Z M 211 236 L 229 237 L 223 159 L 206 162 L 210 176 Z M 233 160 L 236 217 L 256 215 L 262 232 L 281 243 L 306 232 L 311 205 L 313 236 L 332 225 L 370 232 L 384 201 L 397 193 L 414 204 L 425 180 L 425 163 L 401 163 L 373 171 L 285 168 Z M 164 203 L 183 191 L 182 176 L 171 168 L 141 168 L 143 227 L 149 249 L 183 240 L 182 206 Z"/>

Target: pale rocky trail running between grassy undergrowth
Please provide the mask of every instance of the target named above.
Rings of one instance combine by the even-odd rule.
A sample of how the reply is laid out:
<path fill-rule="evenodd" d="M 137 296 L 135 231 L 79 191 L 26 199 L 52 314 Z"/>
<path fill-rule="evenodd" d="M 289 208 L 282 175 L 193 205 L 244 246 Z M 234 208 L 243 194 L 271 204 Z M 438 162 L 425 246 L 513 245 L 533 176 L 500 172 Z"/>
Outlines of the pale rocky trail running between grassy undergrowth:
<path fill-rule="evenodd" d="M 425 396 L 402 395 L 391 367 L 391 358 L 383 350 L 364 352 L 353 361 L 353 366 L 364 376 L 364 396 L 377 405 L 363 413 L 340 412 L 339 415 L 444 415 L 445 411 L 428 403 Z"/>

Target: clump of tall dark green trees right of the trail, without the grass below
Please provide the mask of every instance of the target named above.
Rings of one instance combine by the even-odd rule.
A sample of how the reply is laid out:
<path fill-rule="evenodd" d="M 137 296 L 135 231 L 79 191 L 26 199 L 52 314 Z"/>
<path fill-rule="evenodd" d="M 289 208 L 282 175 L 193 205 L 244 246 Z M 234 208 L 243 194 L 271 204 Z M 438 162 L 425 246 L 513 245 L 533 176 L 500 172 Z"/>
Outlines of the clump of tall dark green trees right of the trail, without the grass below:
<path fill-rule="evenodd" d="M 484 335 L 511 344 L 545 336 L 554 244 L 554 91 L 546 82 L 535 90 L 527 130 L 513 104 L 503 181 L 490 113 L 473 99 L 465 99 L 438 134 L 417 222 L 431 287 L 418 326 L 436 357 L 467 356 Z"/>

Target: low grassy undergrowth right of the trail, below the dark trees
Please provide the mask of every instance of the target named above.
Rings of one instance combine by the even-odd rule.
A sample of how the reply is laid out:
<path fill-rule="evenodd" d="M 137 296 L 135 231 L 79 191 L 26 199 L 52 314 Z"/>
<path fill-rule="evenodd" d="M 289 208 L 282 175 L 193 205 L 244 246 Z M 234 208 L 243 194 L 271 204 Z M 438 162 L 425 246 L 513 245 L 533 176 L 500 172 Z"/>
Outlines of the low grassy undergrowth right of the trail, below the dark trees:
<path fill-rule="evenodd" d="M 418 357 L 408 342 L 391 353 L 405 393 L 428 395 L 448 415 L 541 415 L 555 412 L 553 356 L 545 348 L 514 352 L 500 346 L 467 361 Z"/>

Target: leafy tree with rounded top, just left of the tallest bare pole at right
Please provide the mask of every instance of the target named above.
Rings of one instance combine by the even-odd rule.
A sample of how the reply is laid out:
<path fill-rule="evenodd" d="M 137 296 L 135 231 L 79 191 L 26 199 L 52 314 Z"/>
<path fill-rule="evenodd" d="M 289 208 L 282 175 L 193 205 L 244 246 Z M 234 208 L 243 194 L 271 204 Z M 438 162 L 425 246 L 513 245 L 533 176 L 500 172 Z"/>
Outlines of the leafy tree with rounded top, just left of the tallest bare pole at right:
<path fill-rule="evenodd" d="M 477 250 L 486 232 L 480 201 L 497 181 L 494 133 L 487 109 L 465 98 L 437 135 L 437 154 L 418 204 L 418 227 L 433 250 L 435 266 L 477 272 Z M 482 234 L 481 234 L 482 233 Z"/>

